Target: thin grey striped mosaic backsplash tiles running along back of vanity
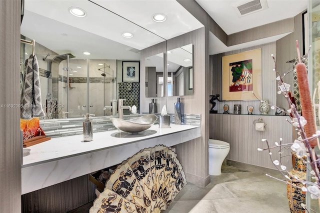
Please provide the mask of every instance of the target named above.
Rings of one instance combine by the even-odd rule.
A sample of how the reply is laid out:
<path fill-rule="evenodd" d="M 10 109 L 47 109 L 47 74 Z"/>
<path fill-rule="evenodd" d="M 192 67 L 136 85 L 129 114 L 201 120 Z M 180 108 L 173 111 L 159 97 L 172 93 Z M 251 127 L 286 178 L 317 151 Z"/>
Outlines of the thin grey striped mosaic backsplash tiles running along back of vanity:
<path fill-rule="evenodd" d="M 143 114 L 123 115 L 123 119 L 131 119 L 139 117 Z M 170 115 L 170 122 L 174 123 L 174 114 Z M 116 129 L 110 120 L 110 116 L 91 117 L 93 124 L 93 132 L 108 131 Z M 200 126 L 200 114 L 184 114 L 184 124 Z M 40 126 L 49 137 L 62 137 L 83 133 L 84 117 L 68 118 L 68 119 L 47 119 L 40 120 Z M 156 122 L 157 123 L 157 122 Z"/>

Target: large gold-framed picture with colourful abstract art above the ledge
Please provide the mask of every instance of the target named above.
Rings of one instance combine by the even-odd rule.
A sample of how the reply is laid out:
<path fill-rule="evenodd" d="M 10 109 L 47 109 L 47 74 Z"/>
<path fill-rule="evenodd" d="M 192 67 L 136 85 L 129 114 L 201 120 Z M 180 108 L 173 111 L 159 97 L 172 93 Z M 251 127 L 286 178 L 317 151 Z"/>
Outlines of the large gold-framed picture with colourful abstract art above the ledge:
<path fill-rule="evenodd" d="M 261 99 L 261 48 L 222 56 L 222 100 L 257 98 Z"/>

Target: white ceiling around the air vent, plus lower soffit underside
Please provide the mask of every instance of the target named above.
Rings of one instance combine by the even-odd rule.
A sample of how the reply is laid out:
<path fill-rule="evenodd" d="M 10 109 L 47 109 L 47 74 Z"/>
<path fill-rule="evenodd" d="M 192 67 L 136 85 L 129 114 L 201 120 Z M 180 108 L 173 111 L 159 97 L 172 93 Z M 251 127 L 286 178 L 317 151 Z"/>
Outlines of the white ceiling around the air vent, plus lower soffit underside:
<path fill-rule="evenodd" d="M 226 34 L 250 29 L 289 17 L 294 17 L 307 8 L 308 0 L 260 0 L 266 1 L 267 8 L 239 16 L 234 5 L 251 0 L 196 0 Z M 213 33 L 209 33 L 209 54 L 231 51 L 244 47 L 276 41 L 287 35 L 283 33 L 233 46 L 226 46 Z"/>

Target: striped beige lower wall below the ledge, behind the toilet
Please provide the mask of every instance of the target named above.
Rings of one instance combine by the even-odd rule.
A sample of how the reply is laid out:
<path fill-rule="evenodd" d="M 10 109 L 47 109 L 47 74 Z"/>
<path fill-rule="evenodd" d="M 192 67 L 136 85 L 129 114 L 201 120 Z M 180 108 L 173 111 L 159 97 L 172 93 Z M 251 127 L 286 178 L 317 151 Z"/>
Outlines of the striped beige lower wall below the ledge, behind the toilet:
<path fill-rule="evenodd" d="M 268 151 L 258 151 L 266 148 L 267 139 L 271 146 L 279 138 L 283 142 L 292 142 L 292 126 L 285 118 L 288 116 L 244 115 L 244 114 L 210 114 L 210 138 L 230 143 L 230 151 L 226 159 L 252 165 L 275 169 Z M 266 124 L 265 131 L 256 131 L 253 121 L 262 118 Z M 279 160 L 278 149 L 272 149 L 271 157 Z M 283 149 L 283 156 L 288 155 L 289 149 Z M 287 168 L 291 168 L 291 155 L 282 158 Z"/>

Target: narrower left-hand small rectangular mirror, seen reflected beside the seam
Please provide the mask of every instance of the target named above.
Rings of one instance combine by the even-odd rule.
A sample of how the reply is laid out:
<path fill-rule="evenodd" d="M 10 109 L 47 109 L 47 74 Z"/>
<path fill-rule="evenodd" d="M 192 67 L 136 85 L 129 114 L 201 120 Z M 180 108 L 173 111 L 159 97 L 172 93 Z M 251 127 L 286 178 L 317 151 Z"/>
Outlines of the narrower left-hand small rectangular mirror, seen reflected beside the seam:
<path fill-rule="evenodd" d="M 145 58 L 145 97 L 163 97 L 163 52 Z"/>

